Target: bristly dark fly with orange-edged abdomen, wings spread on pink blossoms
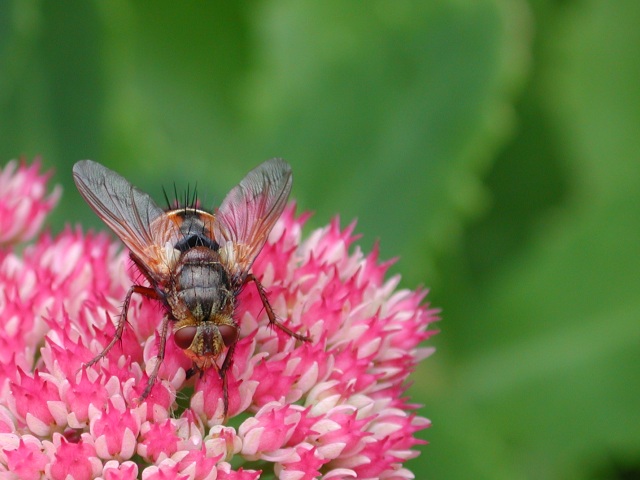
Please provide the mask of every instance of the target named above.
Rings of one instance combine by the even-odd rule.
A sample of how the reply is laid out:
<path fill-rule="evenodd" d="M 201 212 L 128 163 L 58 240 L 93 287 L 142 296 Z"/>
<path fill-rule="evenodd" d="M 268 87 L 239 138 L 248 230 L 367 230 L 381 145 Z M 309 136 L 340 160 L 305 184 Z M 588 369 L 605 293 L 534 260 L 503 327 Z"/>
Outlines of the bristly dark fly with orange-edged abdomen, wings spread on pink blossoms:
<path fill-rule="evenodd" d="M 272 325 L 298 340 L 310 341 L 278 321 L 265 289 L 250 273 L 289 198 L 292 175 L 285 161 L 272 159 L 253 169 L 214 213 L 195 206 L 165 211 L 123 177 L 91 160 L 76 163 L 73 177 L 80 194 L 129 248 L 131 259 L 149 283 L 129 288 L 116 334 L 86 366 L 103 358 L 121 338 L 134 293 L 158 300 L 166 312 L 158 361 L 140 400 L 149 395 L 156 381 L 172 323 L 176 344 L 193 361 L 188 376 L 211 367 L 218 370 L 227 415 L 226 373 L 238 342 L 233 315 L 238 294 L 249 282 L 255 284 Z M 218 366 L 216 360 L 225 349 Z"/>

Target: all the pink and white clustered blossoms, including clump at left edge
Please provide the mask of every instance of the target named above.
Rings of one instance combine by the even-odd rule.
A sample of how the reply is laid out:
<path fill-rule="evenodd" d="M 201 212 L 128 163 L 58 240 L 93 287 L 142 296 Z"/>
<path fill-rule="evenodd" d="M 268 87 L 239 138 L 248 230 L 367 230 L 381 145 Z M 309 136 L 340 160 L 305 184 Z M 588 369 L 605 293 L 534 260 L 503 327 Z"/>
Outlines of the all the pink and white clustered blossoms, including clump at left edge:
<path fill-rule="evenodd" d="M 253 272 L 278 316 L 313 341 L 270 328 L 247 286 L 225 419 L 215 370 L 186 380 L 189 360 L 171 340 L 158 383 L 136 401 L 163 315 L 148 299 L 133 297 L 122 342 L 82 368 L 112 338 L 126 290 L 141 280 L 103 234 L 68 228 L 19 254 L 6 246 L 29 238 L 55 203 L 45 180 L 37 166 L 0 174 L 1 225 L 21 222 L 22 232 L 0 242 L 0 477 L 413 477 L 403 462 L 417 455 L 415 433 L 429 421 L 405 390 L 431 351 L 419 344 L 437 314 L 425 291 L 385 279 L 377 251 L 351 247 L 353 227 L 334 221 L 302 240 L 306 216 L 286 209 Z M 10 199 L 18 195 L 37 214 L 25 217 Z"/>

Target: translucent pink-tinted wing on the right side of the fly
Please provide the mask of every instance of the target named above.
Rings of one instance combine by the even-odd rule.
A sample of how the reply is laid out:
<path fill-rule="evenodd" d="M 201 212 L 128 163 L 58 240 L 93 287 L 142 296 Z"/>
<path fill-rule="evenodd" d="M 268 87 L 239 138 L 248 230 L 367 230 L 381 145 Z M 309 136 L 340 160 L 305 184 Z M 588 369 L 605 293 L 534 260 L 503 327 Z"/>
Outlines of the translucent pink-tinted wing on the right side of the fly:
<path fill-rule="evenodd" d="M 251 170 L 225 197 L 216 212 L 216 240 L 236 282 L 262 250 L 291 192 L 291 167 L 280 158 Z"/>

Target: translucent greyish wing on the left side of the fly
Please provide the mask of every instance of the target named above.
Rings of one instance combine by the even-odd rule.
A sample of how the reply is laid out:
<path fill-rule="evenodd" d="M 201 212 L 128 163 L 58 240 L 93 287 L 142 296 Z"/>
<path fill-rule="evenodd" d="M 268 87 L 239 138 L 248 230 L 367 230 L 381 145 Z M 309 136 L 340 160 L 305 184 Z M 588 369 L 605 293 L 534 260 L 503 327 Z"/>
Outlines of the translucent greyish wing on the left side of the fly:
<path fill-rule="evenodd" d="M 148 268 L 148 273 L 162 280 L 171 265 L 165 246 L 180 238 L 178 226 L 164 210 L 149 195 L 97 162 L 77 162 L 73 179 L 89 206 Z"/>

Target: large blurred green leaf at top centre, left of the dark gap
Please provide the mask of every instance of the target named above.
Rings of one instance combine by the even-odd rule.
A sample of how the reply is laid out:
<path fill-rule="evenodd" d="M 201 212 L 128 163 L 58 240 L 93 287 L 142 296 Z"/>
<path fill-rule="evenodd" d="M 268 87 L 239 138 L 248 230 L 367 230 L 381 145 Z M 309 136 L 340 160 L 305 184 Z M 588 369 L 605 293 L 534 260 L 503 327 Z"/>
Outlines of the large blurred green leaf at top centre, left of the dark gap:
<path fill-rule="evenodd" d="M 477 213 L 477 153 L 509 132 L 523 67 L 509 60 L 526 42 L 495 2 L 416 5 L 269 4 L 248 96 L 266 148 L 303 162 L 303 206 L 357 217 L 365 244 L 418 259 L 402 264 L 413 283 Z"/>

